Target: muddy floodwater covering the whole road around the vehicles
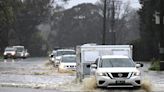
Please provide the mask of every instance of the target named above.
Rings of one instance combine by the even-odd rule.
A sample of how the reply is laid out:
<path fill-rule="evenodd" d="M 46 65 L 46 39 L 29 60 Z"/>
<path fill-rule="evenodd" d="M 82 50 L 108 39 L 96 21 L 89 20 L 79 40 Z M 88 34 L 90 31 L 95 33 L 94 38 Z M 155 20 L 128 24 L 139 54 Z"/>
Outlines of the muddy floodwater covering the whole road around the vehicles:
<path fill-rule="evenodd" d="M 75 73 L 59 73 L 48 58 L 8 59 L 0 61 L 0 92 L 11 87 L 51 89 L 62 91 L 92 91 L 92 92 L 163 92 L 164 72 L 148 71 L 149 63 L 144 63 L 140 70 L 143 75 L 141 89 L 134 88 L 96 88 L 95 78 L 85 78 L 82 83 L 76 82 Z M 30 89 L 27 89 L 30 90 Z M 38 91 L 36 92 L 44 92 Z M 57 91 L 57 92 L 58 92 Z M 3 91 L 5 92 L 5 91 Z M 7 91 L 6 91 L 7 92 Z M 9 91 L 10 92 L 10 91 Z M 29 91 L 30 92 L 30 91 Z M 34 91 L 35 92 L 35 91 Z"/>

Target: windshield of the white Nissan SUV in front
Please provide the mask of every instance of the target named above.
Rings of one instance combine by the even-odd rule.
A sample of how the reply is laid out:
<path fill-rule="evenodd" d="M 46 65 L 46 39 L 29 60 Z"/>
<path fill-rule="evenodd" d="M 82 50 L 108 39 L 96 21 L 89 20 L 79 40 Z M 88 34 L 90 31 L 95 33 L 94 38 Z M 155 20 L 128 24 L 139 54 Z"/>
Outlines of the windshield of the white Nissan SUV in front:
<path fill-rule="evenodd" d="M 128 58 L 101 59 L 99 67 L 135 67 L 133 61 Z"/>

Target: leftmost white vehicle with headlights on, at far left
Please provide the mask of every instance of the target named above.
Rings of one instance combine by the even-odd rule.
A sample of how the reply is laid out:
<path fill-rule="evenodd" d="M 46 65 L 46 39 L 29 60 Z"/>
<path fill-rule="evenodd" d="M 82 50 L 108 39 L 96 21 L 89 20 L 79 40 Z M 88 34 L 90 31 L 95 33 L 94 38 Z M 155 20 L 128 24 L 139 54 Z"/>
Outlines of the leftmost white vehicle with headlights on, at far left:
<path fill-rule="evenodd" d="M 7 58 L 16 58 L 16 53 L 17 53 L 17 50 L 13 47 L 6 47 L 5 48 L 5 51 L 3 53 L 3 56 L 4 56 L 4 59 L 7 59 Z"/>

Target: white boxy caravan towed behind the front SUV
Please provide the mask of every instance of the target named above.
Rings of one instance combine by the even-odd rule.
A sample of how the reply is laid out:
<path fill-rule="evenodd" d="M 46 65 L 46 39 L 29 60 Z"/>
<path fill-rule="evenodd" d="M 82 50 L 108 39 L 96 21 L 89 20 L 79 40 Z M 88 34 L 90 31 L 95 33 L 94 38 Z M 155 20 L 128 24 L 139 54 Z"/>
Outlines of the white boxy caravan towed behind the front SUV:
<path fill-rule="evenodd" d="M 104 55 L 124 55 L 132 58 L 132 45 L 94 45 L 77 46 L 77 78 L 82 80 L 90 75 L 90 66 Z"/>

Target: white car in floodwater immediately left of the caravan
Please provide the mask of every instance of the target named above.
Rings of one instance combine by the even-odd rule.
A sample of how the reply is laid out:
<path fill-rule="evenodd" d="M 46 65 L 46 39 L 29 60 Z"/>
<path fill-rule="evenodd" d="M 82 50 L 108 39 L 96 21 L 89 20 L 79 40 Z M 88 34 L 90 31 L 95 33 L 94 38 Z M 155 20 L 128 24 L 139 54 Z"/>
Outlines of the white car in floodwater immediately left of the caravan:
<path fill-rule="evenodd" d="M 58 70 L 76 70 L 76 55 L 63 55 L 59 60 Z"/>

